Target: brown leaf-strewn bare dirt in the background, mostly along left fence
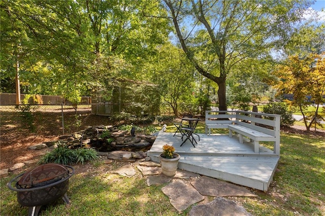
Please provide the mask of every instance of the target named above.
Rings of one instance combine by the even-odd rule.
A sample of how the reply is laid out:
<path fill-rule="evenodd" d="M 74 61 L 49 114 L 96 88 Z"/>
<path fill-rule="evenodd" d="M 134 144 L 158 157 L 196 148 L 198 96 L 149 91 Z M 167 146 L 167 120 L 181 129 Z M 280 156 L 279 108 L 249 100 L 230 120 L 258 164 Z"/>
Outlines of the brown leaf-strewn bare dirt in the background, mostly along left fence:
<path fill-rule="evenodd" d="M 64 114 L 64 122 L 70 125 L 65 131 L 66 134 L 79 131 L 87 126 L 111 125 L 108 117 L 89 115 L 89 113 L 79 112 L 79 127 L 75 125 L 75 113 Z M 30 132 L 28 124 L 20 118 L 18 112 L 1 112 L 0 125 L 0 168 L 10 168 L 15 163 L 33 160 L 40 157 L 44 151 L 29 150 L 28 147 L 34 146 L 44 141 L 55 140 L 62 135 L 62 124 L 60 113 L 36 114 L 35 132 Z M 325 136 L 325 132 L 307 132 L 294 127 L 283 128 L 289 133 L 307 133 Z"/>

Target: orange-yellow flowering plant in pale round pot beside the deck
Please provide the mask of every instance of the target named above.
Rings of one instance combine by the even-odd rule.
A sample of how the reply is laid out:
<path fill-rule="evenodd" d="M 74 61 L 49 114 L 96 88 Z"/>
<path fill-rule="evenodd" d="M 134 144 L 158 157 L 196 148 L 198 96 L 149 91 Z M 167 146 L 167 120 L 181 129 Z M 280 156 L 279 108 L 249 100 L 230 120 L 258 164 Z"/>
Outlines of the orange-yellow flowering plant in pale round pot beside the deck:
<path fill-rule="evenodd" d="M 175 153 L 174 147 L 168 146 L 167 144 L 163 146 L 163 153 L 159 155 L 163 174 L 167 176 L 175 175 L 180 158 L 179 154 Z"/>

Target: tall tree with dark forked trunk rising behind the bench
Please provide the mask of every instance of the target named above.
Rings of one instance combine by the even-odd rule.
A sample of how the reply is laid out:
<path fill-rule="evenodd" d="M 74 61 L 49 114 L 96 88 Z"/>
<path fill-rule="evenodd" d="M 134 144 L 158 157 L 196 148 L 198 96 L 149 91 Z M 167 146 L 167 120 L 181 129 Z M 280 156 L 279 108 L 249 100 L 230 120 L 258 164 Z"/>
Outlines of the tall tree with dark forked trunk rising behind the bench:
<path fill-rule="evenodd" d="M 200 74 L 218 84 L 226 110 L 226 78 L 247 58 L 281 47 L 310 1 L 164 0 L 179 42 Z"/>

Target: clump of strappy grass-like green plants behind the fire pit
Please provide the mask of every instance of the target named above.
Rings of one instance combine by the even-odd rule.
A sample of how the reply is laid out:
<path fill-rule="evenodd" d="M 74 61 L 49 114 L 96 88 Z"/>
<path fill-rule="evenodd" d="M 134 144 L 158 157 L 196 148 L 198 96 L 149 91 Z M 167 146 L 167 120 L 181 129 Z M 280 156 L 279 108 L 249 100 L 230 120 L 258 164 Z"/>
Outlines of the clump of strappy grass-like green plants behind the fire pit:
<path fill-rule="evenodd" d="M 62 142 L 58 142 L 58 147 L 51 152 L 46 153 L 39 164 L 59 163 L 69 165 L 73 163 L 83 164 L 86 161 L 98 159 L 96 151 L 93 149 L 78 148 L 76 150 L 69 149 Z"/>

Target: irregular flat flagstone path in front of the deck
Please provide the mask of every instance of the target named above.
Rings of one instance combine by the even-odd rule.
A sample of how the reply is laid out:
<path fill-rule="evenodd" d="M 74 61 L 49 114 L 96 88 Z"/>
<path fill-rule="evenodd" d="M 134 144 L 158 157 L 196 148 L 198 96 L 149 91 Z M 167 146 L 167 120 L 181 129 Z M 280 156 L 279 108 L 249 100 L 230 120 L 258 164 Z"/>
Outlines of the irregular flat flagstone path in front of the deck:
<path fill-rule="evenodd" d="M 257 196 L 244 187 L 219 181 L 218 179 L 200 176 L 185 170 L 177 170 L 173 177 L 161 174 L 160 164 L 152 161 L 140 162 L 122 166 L 113 172 L 126 177 L 136 174 L 138 168 L 146 177 L 148 187 L 151 185 L 169 183 L 161 191 L 169 197 L 171 204 L 179 213 L 191 206 L 189 215 L 252 215 L 236 202 L 227 200 L 227 196 Z M 206 204 L 198 204 L 204 200 L 204 195 L 216 197 Z"/>

